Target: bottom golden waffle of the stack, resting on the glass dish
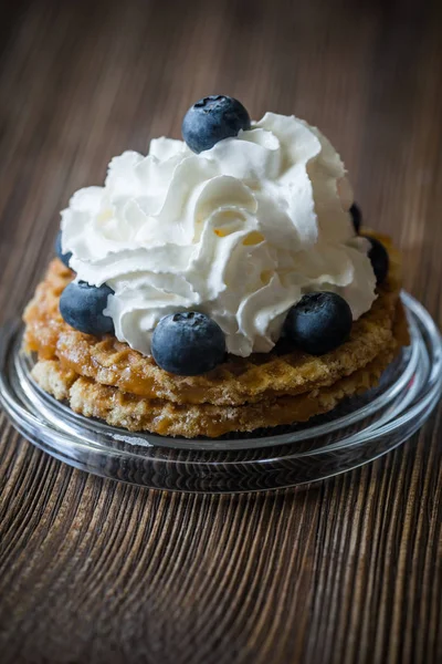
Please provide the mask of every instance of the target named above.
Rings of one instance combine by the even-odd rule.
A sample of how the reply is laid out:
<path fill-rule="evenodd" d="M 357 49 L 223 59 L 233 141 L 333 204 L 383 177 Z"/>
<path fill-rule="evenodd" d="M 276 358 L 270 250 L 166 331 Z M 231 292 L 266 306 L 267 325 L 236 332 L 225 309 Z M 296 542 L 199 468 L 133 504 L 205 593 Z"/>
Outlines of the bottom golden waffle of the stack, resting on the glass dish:
<path fill-rule="evenodd" d="M 408 341 L 403 309 L 398 303 L 390 343 L 365 367 L 327 387 L 298 395 L 264 398 L 240 406 L 176 404 L 127 394 L 64 369 L 57 360 L 41 360 L 33 369 L 40 386 L 57 400 L 67 400 L 76 413 L 98 417 L 129 430 L 149 430 L 167 436 L 217 437 L 230 432 L 252 432 L 294 422 L 334 408 L 344 397 L 375 386 L 400 346 Z"/>

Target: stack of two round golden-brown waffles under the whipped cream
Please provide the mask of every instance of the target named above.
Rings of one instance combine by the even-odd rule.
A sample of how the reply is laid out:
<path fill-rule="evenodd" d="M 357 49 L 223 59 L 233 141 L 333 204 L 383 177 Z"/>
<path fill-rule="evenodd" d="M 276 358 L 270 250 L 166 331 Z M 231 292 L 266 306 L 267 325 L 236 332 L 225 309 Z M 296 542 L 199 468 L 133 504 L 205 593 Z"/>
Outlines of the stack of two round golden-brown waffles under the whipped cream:
<path fill-rule="evenodd" d="M 24 347 L 38 356 L 33 377 L 76 413 L 129 430 L 217 437 L 305 422 L 375 386 L 408 343 L 400 259 L 381 240 L 388 278 L 344 344 L 313 356 L 280 343 L 271 353 L 229 355 L 199 376 L 169 374 L 115 336 L 92 336 L 65 323 L 59 301 L 74 273 L 55 259 L 24 313 Z"/>

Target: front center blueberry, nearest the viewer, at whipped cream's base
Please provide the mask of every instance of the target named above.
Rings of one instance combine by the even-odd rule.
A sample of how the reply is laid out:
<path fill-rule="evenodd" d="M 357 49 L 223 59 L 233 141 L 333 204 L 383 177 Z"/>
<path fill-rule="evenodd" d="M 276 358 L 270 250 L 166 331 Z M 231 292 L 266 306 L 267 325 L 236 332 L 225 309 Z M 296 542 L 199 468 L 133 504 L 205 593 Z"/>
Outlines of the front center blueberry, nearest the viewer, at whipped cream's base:
<path fill-rule="evenodd" d="M 196 376 L 223 361 L 225 339 L 218 323 L 203 313 L 172 313 L 155 328 L 151 353 L 161 369 L 181 376 Z"/>

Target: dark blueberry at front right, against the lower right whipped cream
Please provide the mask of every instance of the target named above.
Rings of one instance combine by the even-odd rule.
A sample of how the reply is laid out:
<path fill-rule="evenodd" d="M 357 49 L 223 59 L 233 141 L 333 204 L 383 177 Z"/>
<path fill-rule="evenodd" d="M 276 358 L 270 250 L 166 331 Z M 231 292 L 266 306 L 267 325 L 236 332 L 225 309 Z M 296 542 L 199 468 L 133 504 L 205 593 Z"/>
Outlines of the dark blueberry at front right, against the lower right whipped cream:
<path fill-rule="evenodd" d="M 351 310 L 340 295 L 307 293 L 288 311 L 284 332 L 301 350 L 322 355 L 346 341 L 351 322 Z"/>

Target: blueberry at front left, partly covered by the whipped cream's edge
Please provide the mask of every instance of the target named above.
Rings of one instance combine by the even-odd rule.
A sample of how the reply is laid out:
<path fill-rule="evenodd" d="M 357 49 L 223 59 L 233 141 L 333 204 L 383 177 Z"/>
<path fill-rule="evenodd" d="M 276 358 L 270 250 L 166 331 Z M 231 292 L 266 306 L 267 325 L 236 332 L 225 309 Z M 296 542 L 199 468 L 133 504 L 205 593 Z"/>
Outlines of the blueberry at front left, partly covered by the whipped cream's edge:
<path fill-rule="evenodd" d="M 114 322 L 104 315 L 107 298 L 113 294 L 112 288 L 90 286 L 85 281 L 72 281 L 60 298 L 60 313 L 63 319 L 85 334 L 114 334 Z"/>

